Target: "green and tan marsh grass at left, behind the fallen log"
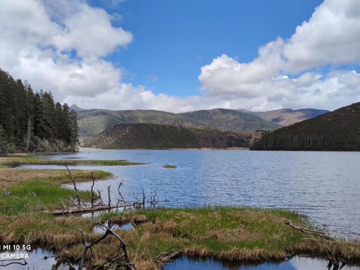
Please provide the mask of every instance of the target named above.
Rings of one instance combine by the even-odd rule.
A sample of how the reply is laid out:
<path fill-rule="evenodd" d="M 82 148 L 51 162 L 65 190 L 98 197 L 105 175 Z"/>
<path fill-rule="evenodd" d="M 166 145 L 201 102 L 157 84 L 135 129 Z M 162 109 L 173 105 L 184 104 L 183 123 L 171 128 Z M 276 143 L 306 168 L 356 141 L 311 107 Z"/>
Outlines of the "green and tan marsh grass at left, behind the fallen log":
<path fill-rule="evenodd" d="M 30 212 L 36 211 L 34 197 L 31 192 L 36 193 L 36 198 L 40 205 L 44 205 L 48 210 L 62 208 L 60 198 L 65 203 L 70 203 L 69 196 L 76 197 L 76 192 L 72 189 L 63 188 L 61 184 L 70 183 L 70 175 L 65 170 L 30 170 L 30 169 L 0 169 L 0 186 L 4 191 L 0 191 L 0 213 L 18 214 L 27 212 L 23 204 L 16 199 L 22 199 Z M 90 171 L 72 170 L 76 181 L 90 181 Z M 110 176 L 110 173 L 94 171 L 96 179 Z M 14 181 L 14 178 L 16 179 Z M 5 195 L 5 190 L 9 196 Z M 90 191 L 80 191 L 83 200 L 91 198 Z M 12 207 L 6 207 L 11 206 Z"/>

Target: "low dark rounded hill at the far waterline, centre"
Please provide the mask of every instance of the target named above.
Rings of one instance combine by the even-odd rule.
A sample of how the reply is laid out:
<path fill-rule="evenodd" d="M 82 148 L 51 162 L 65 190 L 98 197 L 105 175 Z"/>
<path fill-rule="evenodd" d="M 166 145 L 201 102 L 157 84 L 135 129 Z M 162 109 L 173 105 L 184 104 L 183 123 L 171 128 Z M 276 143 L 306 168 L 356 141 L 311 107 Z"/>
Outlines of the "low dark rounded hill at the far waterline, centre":
<path fill-rule="evenodd" d="M 256 133 L 256 132 L 255 132 Z M 255 137 L 254 137 L 255 138 Z M 116 124 L 85 144 L 103 149 L 250 147 L 252 134 L 166 124 Z"/>

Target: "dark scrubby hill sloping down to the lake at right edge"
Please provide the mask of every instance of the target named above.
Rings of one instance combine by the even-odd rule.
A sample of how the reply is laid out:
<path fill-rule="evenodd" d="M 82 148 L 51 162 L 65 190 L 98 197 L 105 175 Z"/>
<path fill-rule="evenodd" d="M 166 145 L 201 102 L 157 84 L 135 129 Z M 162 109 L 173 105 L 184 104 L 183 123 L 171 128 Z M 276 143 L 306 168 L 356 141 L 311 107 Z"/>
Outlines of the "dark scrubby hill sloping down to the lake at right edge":
<path fill-rule="evenodd" d="M 360 102 L 269 132 L 251 150 L 360 151 Z"/>

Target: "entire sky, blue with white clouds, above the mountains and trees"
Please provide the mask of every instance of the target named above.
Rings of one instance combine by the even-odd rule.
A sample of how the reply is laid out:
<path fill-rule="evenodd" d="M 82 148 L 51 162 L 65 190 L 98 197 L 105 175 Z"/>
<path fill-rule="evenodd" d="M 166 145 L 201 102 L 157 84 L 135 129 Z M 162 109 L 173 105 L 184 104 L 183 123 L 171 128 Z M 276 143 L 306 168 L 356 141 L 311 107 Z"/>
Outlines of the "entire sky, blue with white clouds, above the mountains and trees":
<path fill-rule="evenodd" d="M 86 109 L 360 101 L 359 0 L 3 0 L 0 27 L 3 70 Z"/>

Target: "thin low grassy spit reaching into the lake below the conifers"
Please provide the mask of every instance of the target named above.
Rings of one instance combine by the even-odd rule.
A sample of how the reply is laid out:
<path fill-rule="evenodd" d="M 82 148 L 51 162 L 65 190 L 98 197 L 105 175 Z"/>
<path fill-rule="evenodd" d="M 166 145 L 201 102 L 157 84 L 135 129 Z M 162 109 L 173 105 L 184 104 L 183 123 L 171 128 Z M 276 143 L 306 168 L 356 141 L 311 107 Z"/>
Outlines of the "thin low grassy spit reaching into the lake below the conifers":
<path fill-rule="evenodd" d="M 41 164 L 41 165 L 84 165 L 84 164 L 97 164 L 97 165 L 144 165 L 147 163 L 133 162 L 128 160 L 78 160 L 78 159 L 45 159 L 24 156 L 9 156 L 1 157 L 0 165 L 12 164 Z"/>

